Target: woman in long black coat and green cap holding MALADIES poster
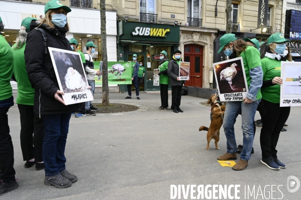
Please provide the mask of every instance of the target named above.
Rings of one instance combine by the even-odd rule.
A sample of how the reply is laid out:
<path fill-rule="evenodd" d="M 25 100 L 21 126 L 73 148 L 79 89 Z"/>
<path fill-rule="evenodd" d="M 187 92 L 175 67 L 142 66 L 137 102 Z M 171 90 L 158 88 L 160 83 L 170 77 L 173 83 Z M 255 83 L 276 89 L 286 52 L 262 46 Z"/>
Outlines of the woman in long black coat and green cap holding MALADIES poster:
<path fill-rule="evenodd" d="M 47 47 L 72 51 L 66 33 L 69 31 L 67 13 L 71 9 L 60 1 L 45 5 L 45 17 L 32 21 L 25 47 L 25 63 L 31 85 L 35 88 L 34 112 L 44 122 L 43 161 L 44 184 L 57 188 L 69 187 L 77 177 L 66 170 L 65 146 L 71 113 L 78 112 L 78 105 L 65 105 L 52 60 Z M 37 30 L 39 28 L 41 30 Z"/>

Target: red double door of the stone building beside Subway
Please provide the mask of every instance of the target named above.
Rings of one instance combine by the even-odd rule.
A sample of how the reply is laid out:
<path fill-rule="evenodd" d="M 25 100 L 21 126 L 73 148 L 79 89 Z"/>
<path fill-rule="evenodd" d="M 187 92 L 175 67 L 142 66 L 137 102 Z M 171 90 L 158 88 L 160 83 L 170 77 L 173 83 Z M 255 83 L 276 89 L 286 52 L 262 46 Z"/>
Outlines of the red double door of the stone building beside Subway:
<path fill-rule="evenodd" d="M 185 86 L 202 88 L 203 86 L 203 47 L 199 45 L 184 46 L 184 62 L 190 62 L 189 81 Z"/>

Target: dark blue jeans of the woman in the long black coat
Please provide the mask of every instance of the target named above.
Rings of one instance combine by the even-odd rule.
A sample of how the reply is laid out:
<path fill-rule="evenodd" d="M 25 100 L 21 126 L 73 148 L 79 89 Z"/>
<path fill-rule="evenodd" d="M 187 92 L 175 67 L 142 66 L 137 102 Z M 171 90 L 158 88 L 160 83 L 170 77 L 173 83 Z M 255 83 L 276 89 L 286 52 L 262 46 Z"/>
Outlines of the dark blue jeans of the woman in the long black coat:
<path fill-rule="evenodd" d="M 65 169 L 65 147 L 70 117 L 71 113 L 42 116 L 45 127 L 43 160 L 46 176 L 56 175 Z"/>

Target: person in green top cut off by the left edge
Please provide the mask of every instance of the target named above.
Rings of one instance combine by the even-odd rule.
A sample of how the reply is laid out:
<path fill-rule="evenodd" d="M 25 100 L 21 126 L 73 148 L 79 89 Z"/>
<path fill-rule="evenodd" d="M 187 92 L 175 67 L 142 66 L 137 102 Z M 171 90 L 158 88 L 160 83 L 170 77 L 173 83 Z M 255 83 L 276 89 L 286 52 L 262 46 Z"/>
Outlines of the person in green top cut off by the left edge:
<path fill-rule="evenodd" d="M 0 32 L 4 24 L 0 18 Z M 13 76 L 14 53 L 0 33 L 0 196 L 18 188 L 14 169 L 14 145 L 10 135 L 8 111 L 14 105 L 10 79 Z"/>

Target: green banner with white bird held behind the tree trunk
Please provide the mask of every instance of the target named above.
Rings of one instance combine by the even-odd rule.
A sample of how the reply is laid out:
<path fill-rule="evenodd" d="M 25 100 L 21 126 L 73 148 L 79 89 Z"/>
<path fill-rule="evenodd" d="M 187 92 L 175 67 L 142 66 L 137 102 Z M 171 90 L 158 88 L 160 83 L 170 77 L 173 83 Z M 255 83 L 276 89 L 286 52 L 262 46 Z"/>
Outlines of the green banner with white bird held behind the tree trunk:
<path fill-rule="evenodd" d="M 133 62 L 134 63 L 134 62 Z M 108 62 L 108 84 L 132 84 L 132 65 L 128 62 Z M 134 63 L 135 65 L 135 63 Z M 94 61 L 94 69 L 103 68 L 102 61 Z M 134 67 L 134 66 L 133 66 Z M 95 76 L 95 85 L 103 84 L 103 75 Z"/>

